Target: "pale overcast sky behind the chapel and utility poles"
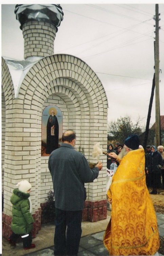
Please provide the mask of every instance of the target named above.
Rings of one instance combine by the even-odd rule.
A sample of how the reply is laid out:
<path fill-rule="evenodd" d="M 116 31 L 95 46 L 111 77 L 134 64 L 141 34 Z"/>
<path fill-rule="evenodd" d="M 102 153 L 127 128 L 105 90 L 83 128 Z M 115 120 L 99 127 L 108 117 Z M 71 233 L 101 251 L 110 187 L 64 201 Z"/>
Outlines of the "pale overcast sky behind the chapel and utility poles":
<path fill-rule="evenodd" d="M 54 54 L 76 56 L 97 74 L 108 98 L 108 122 L 128 115 L 133 121 L 140 116 L 146 125 L 154 74 L 155 3 L 60 4 L 64 16 Z M 1 10 L 1 54 L 23 60 L 24 40 L 15 4 L 2 4 Z M 159 4 L 159 13 L 160 112 L 164 115 L 164 4 Z M 150 125 L 154 122 L 155 95 Z"/>

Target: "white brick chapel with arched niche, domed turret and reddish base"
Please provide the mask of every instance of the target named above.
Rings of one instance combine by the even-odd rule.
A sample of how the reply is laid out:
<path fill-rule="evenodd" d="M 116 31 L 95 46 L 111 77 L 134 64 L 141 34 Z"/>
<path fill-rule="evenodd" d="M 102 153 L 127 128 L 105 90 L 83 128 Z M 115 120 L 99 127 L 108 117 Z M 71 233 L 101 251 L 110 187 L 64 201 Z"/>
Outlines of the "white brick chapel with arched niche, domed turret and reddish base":
<path fill-rule="evenodd" d="M 50 7 L 54 19 L 49 15 Z M 29 9 L 32 18 L 27 15 Z M 35 12 L 40 14 L 39 20 Z M 23 32 L 24 60 L 2 57 L 2 235 L 6 238 L 11 232 L 10 197 L 16 184 L 21 180 L 32 184 L 33 236 L 41 228 L 40 204 L 53 190 L 49 156 L 41 156 L 42 113 L 47 106 L 61 111 L 61 134 L 74 130 L 75 150 L 84 148 L 88 161 L 96 161 L 92 157 L 95 143 L 100 142 L 105 151 L 107 148 L 108 102 L 101 81 L 83 60 L 54 55 L 57 27 L 63 19 L 61 6 L 18 4 L 15 14 Z M 106 156 L 100 161 L 103 170 L 98 178 L 85 184 L 84 220 L 98 221 L 107 216 Z"/>

